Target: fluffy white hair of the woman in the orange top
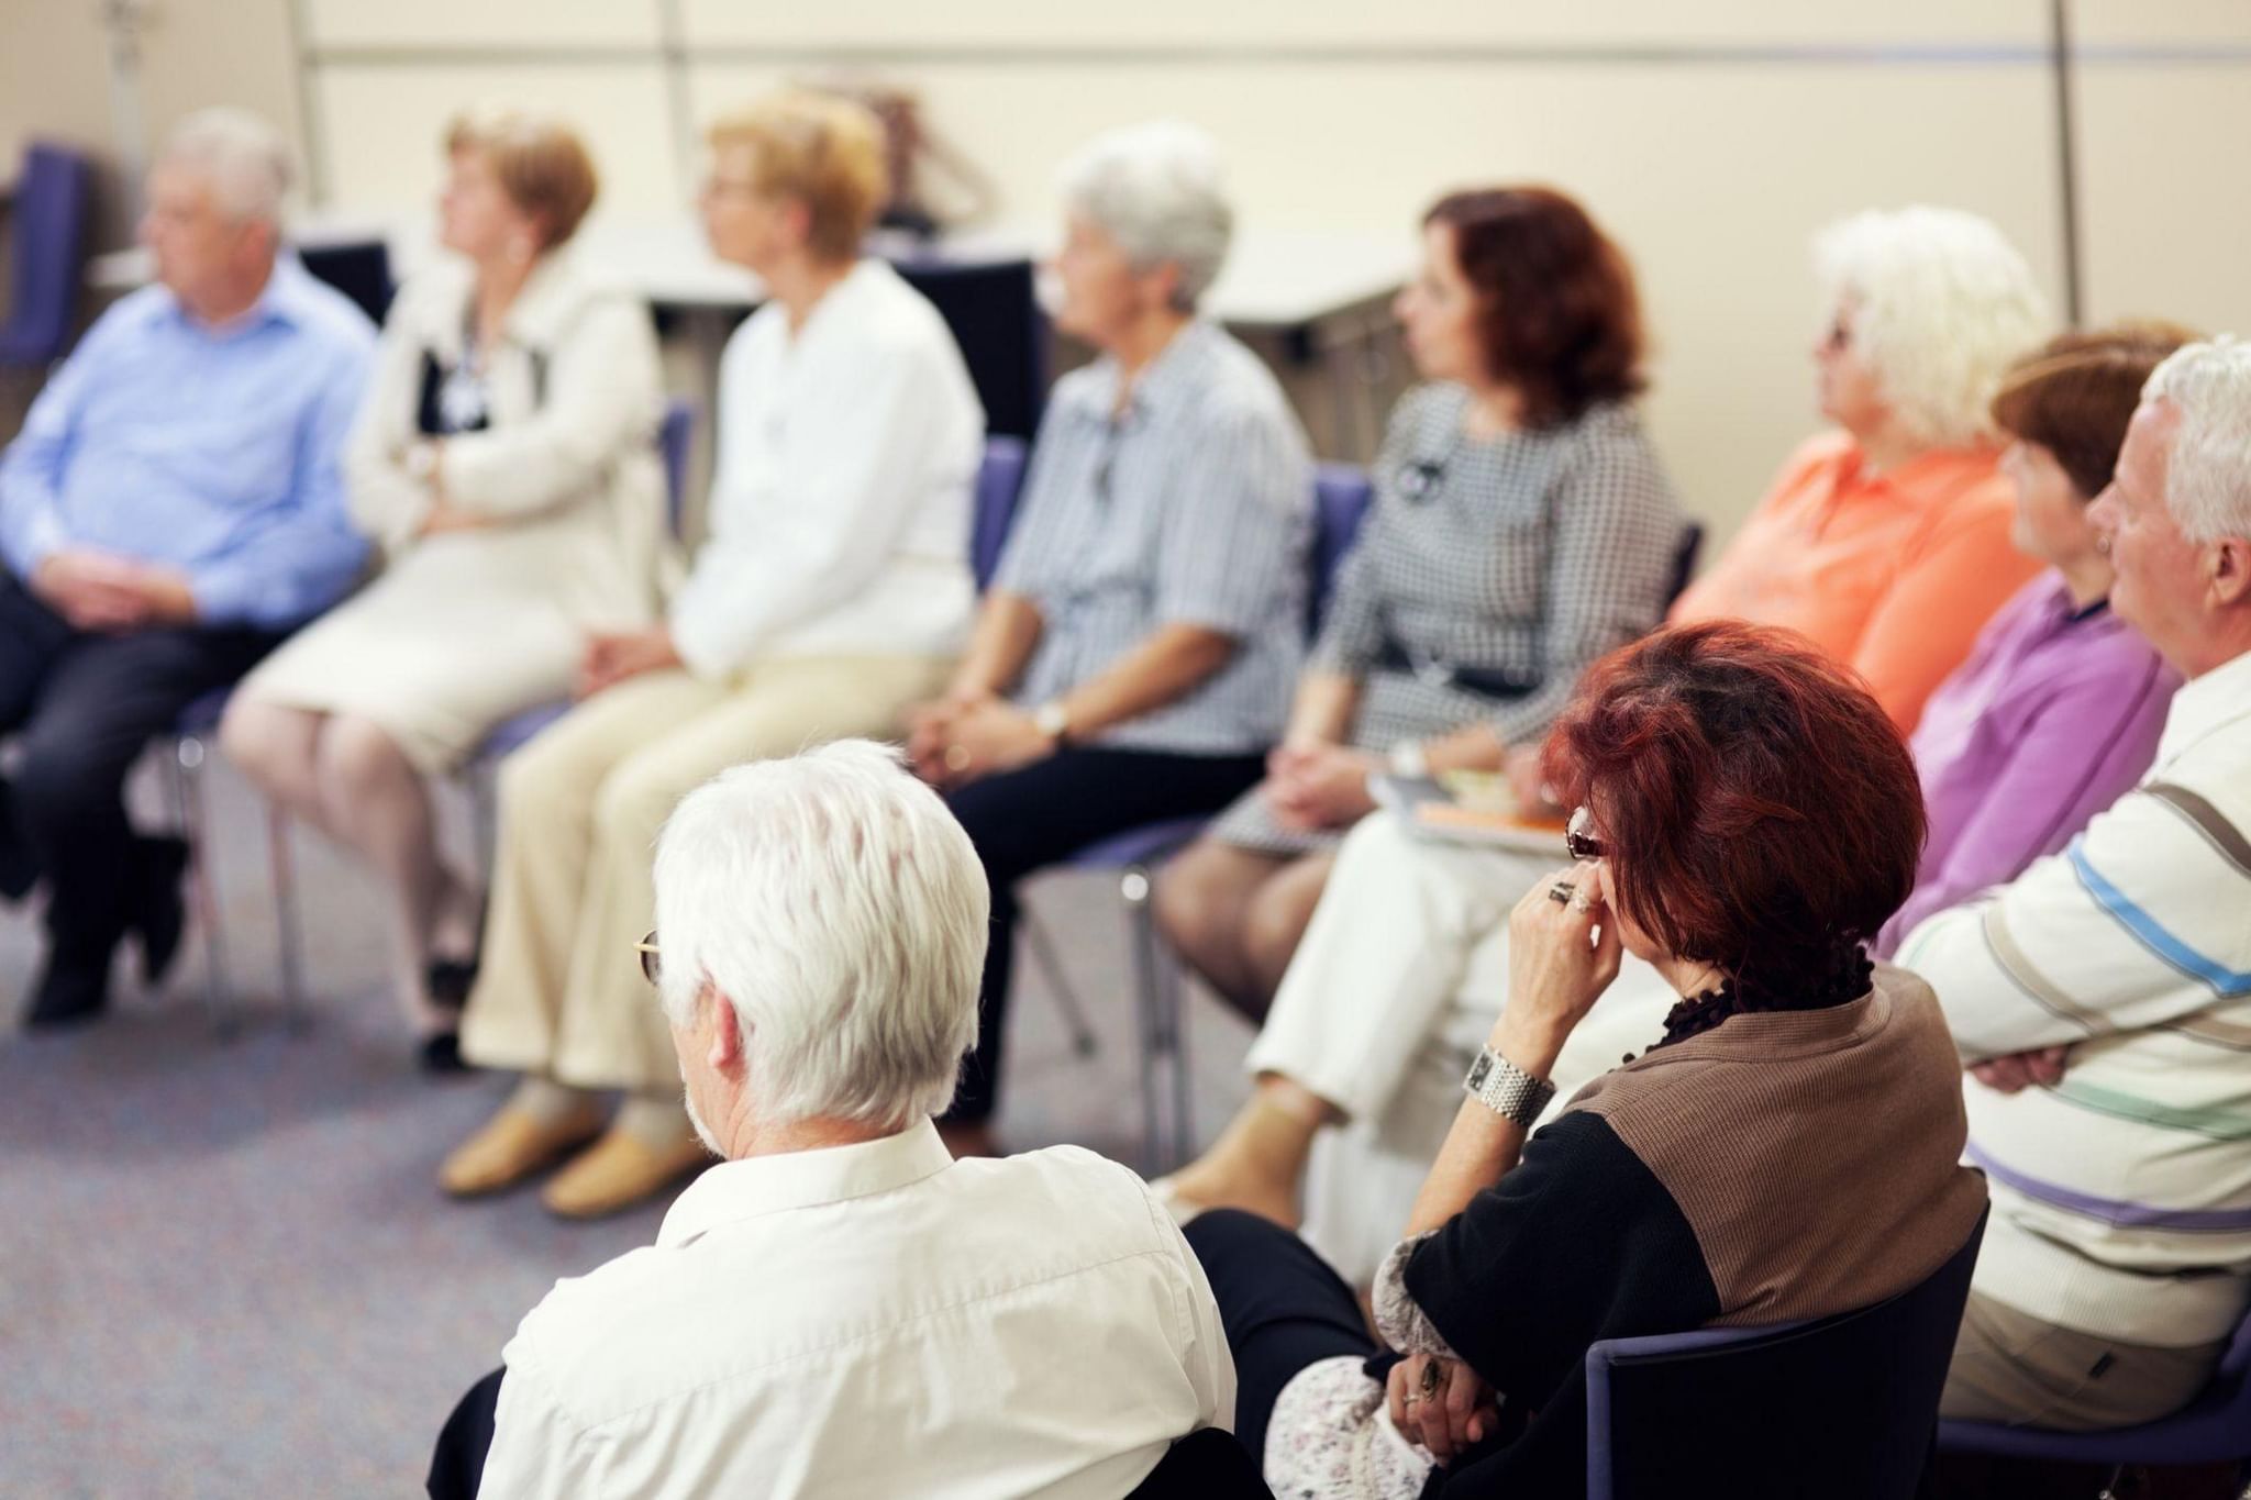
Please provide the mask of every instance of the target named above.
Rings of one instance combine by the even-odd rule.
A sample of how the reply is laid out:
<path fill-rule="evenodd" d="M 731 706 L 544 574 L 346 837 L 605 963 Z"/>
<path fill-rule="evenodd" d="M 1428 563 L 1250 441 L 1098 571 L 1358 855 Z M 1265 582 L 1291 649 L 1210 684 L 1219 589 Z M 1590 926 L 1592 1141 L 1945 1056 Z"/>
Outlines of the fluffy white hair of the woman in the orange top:
<path fill-rule="evenodd" d="M 1814 238 L 1832 306 L 1853 308 L 1853 349 L 1907 436 L 1961 448 L 1994 436 L 1992 396 L 2051 326 L 2017 247 L 1976 214 L 1907 207 L 1853 214 Z"/>

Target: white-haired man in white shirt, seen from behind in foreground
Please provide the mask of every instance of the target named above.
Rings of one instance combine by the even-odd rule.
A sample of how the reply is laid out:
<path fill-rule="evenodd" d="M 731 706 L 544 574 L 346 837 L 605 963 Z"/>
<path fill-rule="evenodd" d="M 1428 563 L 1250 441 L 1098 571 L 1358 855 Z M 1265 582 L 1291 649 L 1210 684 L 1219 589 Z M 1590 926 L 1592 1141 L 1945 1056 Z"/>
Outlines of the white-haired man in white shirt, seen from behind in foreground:
<path fill-rule="evenodd" d="M 1231 1424 L 1211 1289 L 1132 1172 L 939 1140 L 990 909 L 894 751 L 720 774 L 655 884 L 644 963 L 725 1163 L 524 1318 L 482 1493 L 1123 1496 Z"/>

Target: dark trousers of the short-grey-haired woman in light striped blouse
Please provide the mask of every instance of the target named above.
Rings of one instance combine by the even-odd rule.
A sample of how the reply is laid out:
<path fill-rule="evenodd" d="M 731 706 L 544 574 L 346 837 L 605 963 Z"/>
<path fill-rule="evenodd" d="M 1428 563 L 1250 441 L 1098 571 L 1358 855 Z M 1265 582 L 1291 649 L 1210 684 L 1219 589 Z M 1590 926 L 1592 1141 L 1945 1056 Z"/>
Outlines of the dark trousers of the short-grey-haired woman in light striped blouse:
<path fill-rule="evenodd" d="M 1008 976 L 1015 963 L 1015 882 L 1085 846 L 1144 823 L 1209 816 L 1265 776 L 1263 756 L 1166 756 L 1067 749 L 972 780 L 952 794 L 993 891 L 993 942 L 977 996 L 977 1052 L 961 1070 L 948 1120 L 988 1120 L 999 1102 Z"/>

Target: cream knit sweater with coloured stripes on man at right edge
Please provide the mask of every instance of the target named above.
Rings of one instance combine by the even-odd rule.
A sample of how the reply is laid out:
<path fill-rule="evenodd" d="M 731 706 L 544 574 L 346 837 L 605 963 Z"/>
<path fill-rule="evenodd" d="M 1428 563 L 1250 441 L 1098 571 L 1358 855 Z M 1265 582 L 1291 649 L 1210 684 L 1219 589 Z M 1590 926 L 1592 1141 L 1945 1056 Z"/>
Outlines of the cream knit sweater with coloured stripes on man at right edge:
<path fill-rule="evenodd" d="M 2105 1338 L 2226 1338 L 2251 1302 L 2251 654 L 2174 695 L 2156 765 L 2062 855 L 1898 963 L 1965 1061 L 2071 1046 L 2051 1088 L 1967 1082 L 1976 1291 Z"/>

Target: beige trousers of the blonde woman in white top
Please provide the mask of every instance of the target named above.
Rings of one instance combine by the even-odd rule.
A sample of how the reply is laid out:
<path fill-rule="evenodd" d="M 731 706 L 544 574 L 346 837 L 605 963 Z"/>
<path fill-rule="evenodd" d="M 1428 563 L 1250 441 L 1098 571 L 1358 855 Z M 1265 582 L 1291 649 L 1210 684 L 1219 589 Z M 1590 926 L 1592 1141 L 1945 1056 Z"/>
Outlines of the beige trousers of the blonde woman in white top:
<path fill-rule="evenodd" d="M 579 1088 L 678 1093 L 671 1030 L 633 951 L 655 924 L 664 819 L 732 765 L 896 738 L 907 706 L 936 697 L 948 672 L 943 657 L 774 659 L 729 684 L 648 672 L 509 756 L 461 1050 Z"/>

